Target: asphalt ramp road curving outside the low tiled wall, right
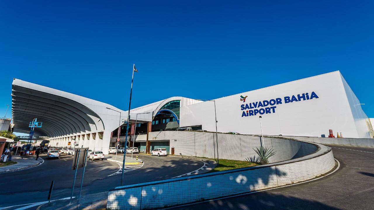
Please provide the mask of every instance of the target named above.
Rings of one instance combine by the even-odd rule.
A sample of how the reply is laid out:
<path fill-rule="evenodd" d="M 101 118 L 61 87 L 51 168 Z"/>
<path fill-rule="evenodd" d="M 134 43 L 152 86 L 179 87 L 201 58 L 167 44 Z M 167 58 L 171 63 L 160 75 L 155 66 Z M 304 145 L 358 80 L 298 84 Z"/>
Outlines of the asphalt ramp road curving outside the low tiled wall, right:
<path fill-rule="evenodd" d="M 327 177 L 172 210 L 374 209 L 374 148 L 328 145 L 340 169 Z"/>

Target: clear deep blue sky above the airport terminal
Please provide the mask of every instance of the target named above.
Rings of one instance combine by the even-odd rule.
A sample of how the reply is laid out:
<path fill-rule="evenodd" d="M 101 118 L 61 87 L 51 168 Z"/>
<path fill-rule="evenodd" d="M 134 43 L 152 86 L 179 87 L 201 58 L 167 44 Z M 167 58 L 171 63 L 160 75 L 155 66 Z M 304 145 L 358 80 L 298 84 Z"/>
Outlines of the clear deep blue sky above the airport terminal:
<path fill-rule="evenodd" d="M 127 110 L 135 63 L 132 108 L 171 96 L 220 98 L 340 70 L 374 117 L 373 6 L 3 0 L 0 116 L 11 103 L 12 78 Z"/>

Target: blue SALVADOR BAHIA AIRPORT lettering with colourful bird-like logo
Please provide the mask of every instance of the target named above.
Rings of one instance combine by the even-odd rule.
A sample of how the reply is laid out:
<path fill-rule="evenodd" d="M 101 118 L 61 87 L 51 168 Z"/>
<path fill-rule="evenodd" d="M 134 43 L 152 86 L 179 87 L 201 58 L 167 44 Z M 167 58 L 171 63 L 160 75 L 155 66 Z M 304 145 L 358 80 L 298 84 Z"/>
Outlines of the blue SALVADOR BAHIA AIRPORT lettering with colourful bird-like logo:
<path fill-rule="evenodd" d="M 245 103 L 245 99 L 247 96 L 240 96 L 240 101 Z M 292 102 L 297 102 L 297 101 L 305 101 L 305 100 L 312 100 L 314 98 L 319 98 L 315 92 L 312 93 L 303 93 L 303 94 L 298 94 L 298 95 L 293 95 L 293 96 L 285 96 L 282 98 L 276 98 L 276 99 L 270 99 L 269 101 L 264 100 L 264 101 L 257 101 L 257 102 L 251 102 L 249 104 L 242 104 L 240 105 L 240 110 L 243 110 L 242 117 L 248 117 L 248 116 L 253 116 L 257 114 L 271 114 L 275 113 L 275 109 L 277 108 L 278 104 L 288 104 Z M 264 108 L 260 108 L 264 107 Z M 247 110 L 248 109 L 248 110 Z"/>

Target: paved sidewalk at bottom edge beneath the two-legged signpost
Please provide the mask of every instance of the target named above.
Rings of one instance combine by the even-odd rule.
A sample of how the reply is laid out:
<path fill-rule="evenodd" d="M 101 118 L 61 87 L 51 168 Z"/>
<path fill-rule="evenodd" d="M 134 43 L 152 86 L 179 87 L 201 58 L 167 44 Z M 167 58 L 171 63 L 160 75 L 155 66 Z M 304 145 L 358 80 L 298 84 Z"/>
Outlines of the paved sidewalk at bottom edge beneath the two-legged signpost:
<path fill-rule="evenodd" d="M 35 207 L 38 210 L 105 210 L 107 207 L 108 192 L 101 192 L 91 195 L 82 195 L 79 199 L 73 198 L 70 202 L 70 198 L 66 200 L 51 201 L 48 203 Z"/>

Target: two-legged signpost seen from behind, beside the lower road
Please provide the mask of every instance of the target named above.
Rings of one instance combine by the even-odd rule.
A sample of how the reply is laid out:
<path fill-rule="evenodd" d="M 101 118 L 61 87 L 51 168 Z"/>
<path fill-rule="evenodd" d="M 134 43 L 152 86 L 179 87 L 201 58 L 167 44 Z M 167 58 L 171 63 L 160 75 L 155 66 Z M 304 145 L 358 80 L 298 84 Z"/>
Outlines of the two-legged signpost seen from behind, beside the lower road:
<path fill-rule="evenodd" d="M 75 148 L 73 166 L 71 167 L 71 170 L 75 170 L 75 174 L 74 174 L 73 188 L 71 189 L 70 203 L 71 203 L 71 199 L 73 198 L 75 179 L 77 177 L 77 170 L 83 167 L 82 181 L 80 182 L 79 197 L 82 192 L 83 177 L 85 176 L 85 169 L 87 165 L 87 153 L 88 153 L 88 148 Z M 79 159 L 79 157 L 82 157 L 82 155 L 83 155 L 83 158 Z"/>

